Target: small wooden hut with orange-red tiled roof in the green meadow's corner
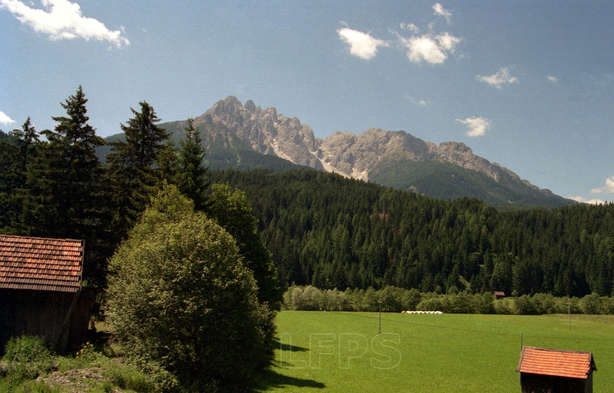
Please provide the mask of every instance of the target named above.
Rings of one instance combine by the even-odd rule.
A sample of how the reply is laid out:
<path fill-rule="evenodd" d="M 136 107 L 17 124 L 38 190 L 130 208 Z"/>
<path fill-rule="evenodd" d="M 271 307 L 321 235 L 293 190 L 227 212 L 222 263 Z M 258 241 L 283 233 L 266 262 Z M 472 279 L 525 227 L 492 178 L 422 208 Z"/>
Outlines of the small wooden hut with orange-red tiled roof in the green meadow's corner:
<path fill-rule="evenodd" d="M 592 393 L 593 353 L 524 346 L 516 371 L 523 393 Z"/>

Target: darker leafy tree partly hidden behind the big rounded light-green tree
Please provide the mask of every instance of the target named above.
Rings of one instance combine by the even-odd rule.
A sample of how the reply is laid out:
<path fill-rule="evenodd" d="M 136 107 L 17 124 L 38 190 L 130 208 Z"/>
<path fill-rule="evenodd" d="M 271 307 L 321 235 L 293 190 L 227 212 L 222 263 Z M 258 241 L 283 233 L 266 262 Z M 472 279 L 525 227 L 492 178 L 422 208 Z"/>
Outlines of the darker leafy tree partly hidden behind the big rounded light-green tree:
<path fill-rule="evenodd" d="M 283 289 L 277 281 L 271 256 L 258 235 L 258 220 L 252 215 L 245 193 L 228 185 L 214 184 L 206 212 L 236 239 L 246 267 L 254 273 L 258 300 L 279 310 Z"/>

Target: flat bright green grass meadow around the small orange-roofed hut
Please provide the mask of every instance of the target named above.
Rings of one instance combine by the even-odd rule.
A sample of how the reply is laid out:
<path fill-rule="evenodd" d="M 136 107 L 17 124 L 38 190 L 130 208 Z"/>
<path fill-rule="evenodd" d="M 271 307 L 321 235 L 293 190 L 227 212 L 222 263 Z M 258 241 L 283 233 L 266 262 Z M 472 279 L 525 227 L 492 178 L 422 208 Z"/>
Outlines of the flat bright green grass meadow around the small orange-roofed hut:
<path fill-rule="evenodd" d="M 614 393 L 614 316 L 281 311 L 258 392 L 520 392 L 523 344 L 593 351 L 594 391 Z"/>

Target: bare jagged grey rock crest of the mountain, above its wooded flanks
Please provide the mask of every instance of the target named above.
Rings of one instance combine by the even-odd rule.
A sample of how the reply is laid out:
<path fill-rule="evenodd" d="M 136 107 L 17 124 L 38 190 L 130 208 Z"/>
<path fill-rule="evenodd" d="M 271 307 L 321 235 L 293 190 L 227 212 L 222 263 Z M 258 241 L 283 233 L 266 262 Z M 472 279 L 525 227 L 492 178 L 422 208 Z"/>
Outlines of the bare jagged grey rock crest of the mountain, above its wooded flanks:
<path fill-rule="evenodd" d="M 438 160 L 476 170 L 495 181 L 524 183 L 511 170 L 473 154 L 462 142 L 425 142 L 405 131 L 371 128 L 359 135 L 335 132 L 326 139 L 314 137 L 313 130 L 298 118 L 278 114 L 274 107 L 260 109 L 252 100 L 245 105 L 228 96 L 195 120 L 221 123 L 258 153 L 275 155 L 295 164 L 335 172 L 345 177 L 368 180 L 369 172 L 384 163 L 399 159 Z M 545 191 L 542 191 L 545 193 Z"/>

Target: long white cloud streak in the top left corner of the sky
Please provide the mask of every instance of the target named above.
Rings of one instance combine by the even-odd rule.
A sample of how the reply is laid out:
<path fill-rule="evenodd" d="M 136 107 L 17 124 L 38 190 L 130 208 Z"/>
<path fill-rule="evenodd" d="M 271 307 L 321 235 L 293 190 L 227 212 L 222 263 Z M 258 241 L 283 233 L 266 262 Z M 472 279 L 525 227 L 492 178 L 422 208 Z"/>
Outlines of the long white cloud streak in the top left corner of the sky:
<path fill-rule="evenodd" d="M 0 7 L 13 13 L 17 20 L 36 32 L 47 34 L 51 40 L 106 40 L 116 47 L 130 45 L 120 30 L 109 30 L 103 23 L 84 17 L 79 4 L 68 0 L 41 0 L 43 9 L 26 6 L 19 0 L 0 0 Z"/>

